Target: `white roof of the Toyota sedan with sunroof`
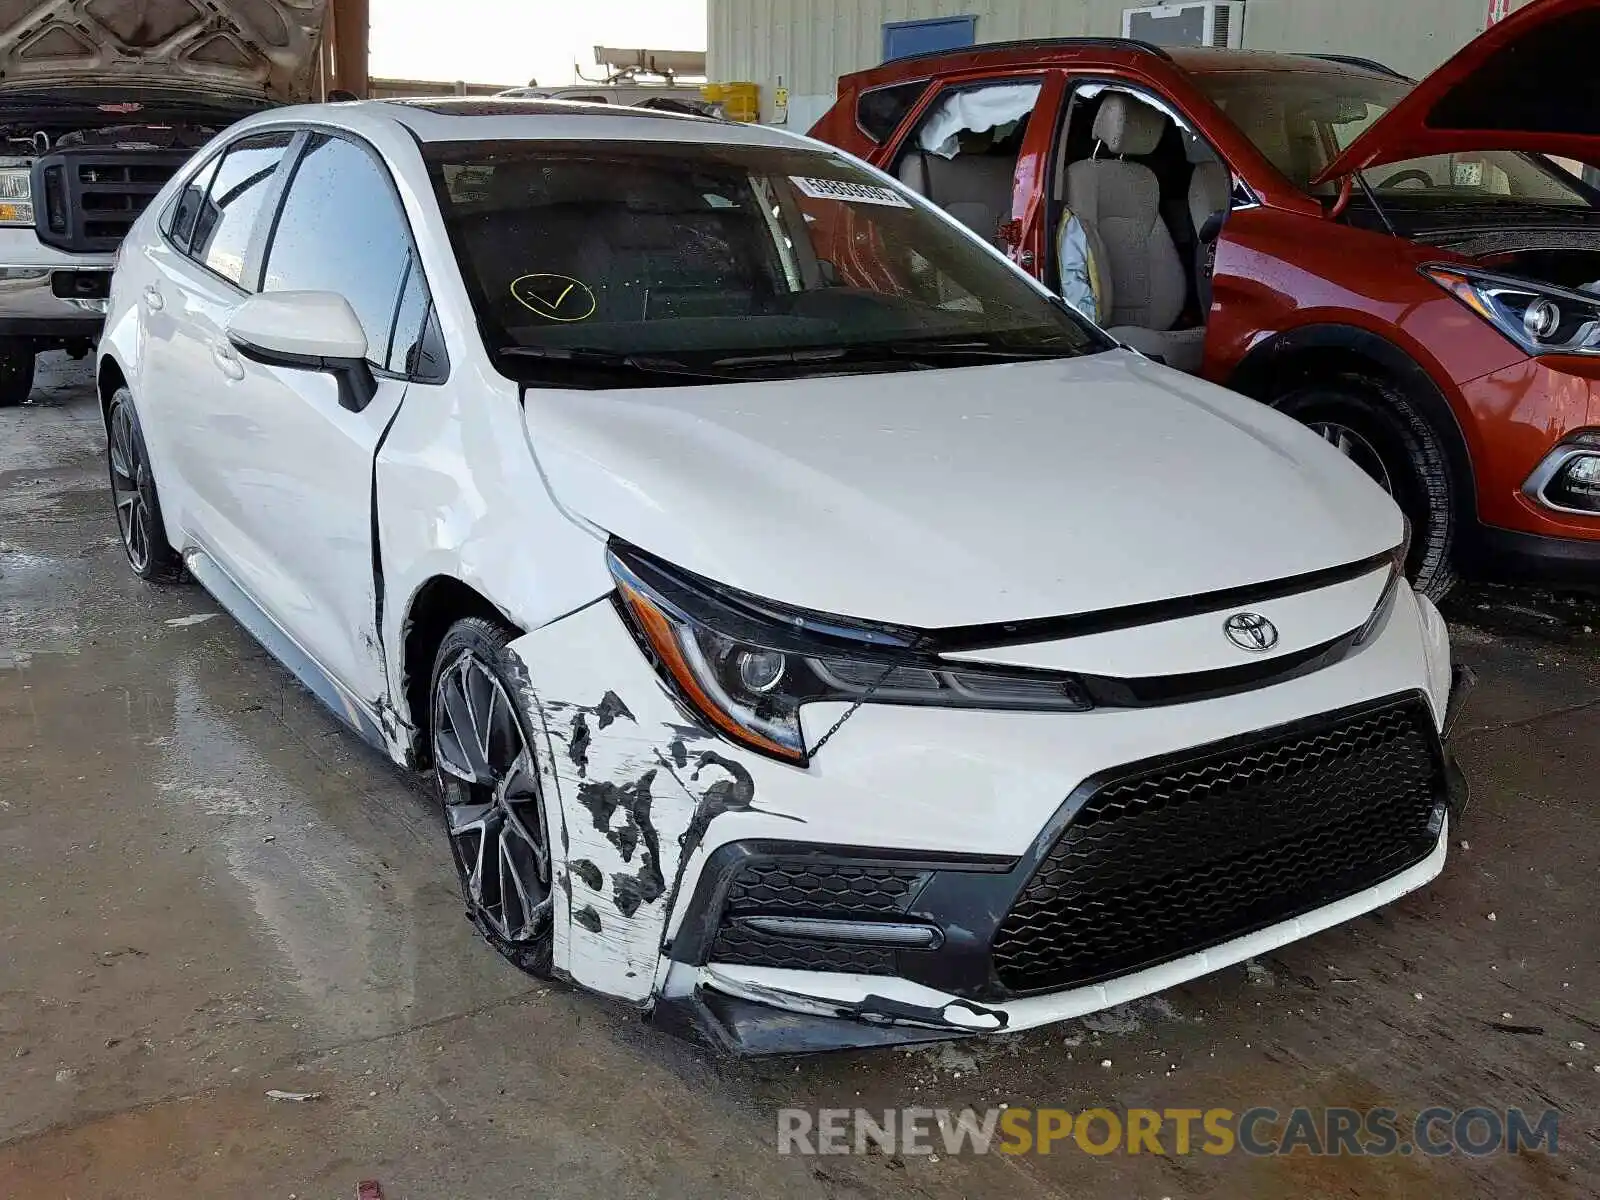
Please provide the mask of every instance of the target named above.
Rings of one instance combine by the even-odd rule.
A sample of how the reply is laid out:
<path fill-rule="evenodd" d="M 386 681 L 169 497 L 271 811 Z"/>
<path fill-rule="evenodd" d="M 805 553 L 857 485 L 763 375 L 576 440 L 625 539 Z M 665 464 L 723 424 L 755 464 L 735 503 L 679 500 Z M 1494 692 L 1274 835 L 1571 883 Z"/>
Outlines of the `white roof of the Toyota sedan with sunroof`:
<path fill-rule="evenodd" d="M 651 141 L 706 146 L 768 146 L 827 152 L 806 138 L 766 125 L 696 117 L 661 109 L 515 96 L 429 96 L 346 101 L 278 109 L 275 120 L 315 117 L 333 125 L 392 122 L 421 142 L 474 141 Z"/>

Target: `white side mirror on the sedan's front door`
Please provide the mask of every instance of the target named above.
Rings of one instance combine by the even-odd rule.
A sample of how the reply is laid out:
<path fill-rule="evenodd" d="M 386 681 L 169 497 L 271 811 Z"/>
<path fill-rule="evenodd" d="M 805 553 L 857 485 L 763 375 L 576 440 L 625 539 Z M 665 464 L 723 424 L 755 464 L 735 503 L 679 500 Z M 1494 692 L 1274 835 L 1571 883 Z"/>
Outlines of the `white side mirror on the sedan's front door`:
<path fill-rule="evenodd" d="M 258 293 L 234 310 L 227 339 L 251 362 L 331 374 L 339 406 L 352 413 L 378 394 L 366 365 L 366 331 L 336 291 Z"/>

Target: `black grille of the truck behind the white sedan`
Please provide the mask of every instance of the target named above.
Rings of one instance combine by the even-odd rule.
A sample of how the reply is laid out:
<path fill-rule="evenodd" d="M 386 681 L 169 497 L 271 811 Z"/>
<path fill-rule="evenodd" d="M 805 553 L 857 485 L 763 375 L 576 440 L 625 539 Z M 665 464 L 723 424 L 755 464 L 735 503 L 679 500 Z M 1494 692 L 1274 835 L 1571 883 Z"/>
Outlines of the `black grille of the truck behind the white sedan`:
<path fill-rule="evenodd" d="M 62 150 L 34 163 L 38 240 L 109 254 L 189 150 Z"/>

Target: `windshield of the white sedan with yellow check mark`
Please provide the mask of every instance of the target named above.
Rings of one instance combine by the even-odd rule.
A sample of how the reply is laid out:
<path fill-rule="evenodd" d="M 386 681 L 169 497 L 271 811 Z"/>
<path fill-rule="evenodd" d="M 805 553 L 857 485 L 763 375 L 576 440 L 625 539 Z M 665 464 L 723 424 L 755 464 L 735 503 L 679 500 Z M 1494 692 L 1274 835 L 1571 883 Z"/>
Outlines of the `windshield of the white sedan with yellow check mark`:
<path fill-rule="evenodd" d="M 685 366 L 739 379 L 1110 347 L 960 227 L 830 154 L 682 142 L 427 152 L 480 328 L 514 378 L 581 362 L 675 370 L 682 382 Z"/>

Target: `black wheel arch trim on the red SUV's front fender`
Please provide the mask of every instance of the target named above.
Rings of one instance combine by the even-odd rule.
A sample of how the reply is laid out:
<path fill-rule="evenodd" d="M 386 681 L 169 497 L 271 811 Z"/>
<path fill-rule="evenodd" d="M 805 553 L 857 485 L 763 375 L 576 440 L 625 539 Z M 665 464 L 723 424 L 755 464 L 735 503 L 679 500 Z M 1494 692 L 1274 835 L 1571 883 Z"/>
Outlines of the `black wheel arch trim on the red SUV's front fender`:
<path fill-rule="evenodd" d="M 1355 358 L 1366 358 L 1418 402 L 1443 437 L 1450 472 L 1461 485 L 1456 498 L 1456 515 L 1462 520 L 1462 530 L 1470 528 L 1478 509 L 1478 483 L 1461 418 L 1434 373 L 1382 334 L 1358 325 L 1334 322 L 1285 330 L 1253 346 L 1227 378 L 1227 387 L 1262 403 L 1270 403 L 1267 392 L 1285 362 L 1315 350 L 1342 350 Z"/>

